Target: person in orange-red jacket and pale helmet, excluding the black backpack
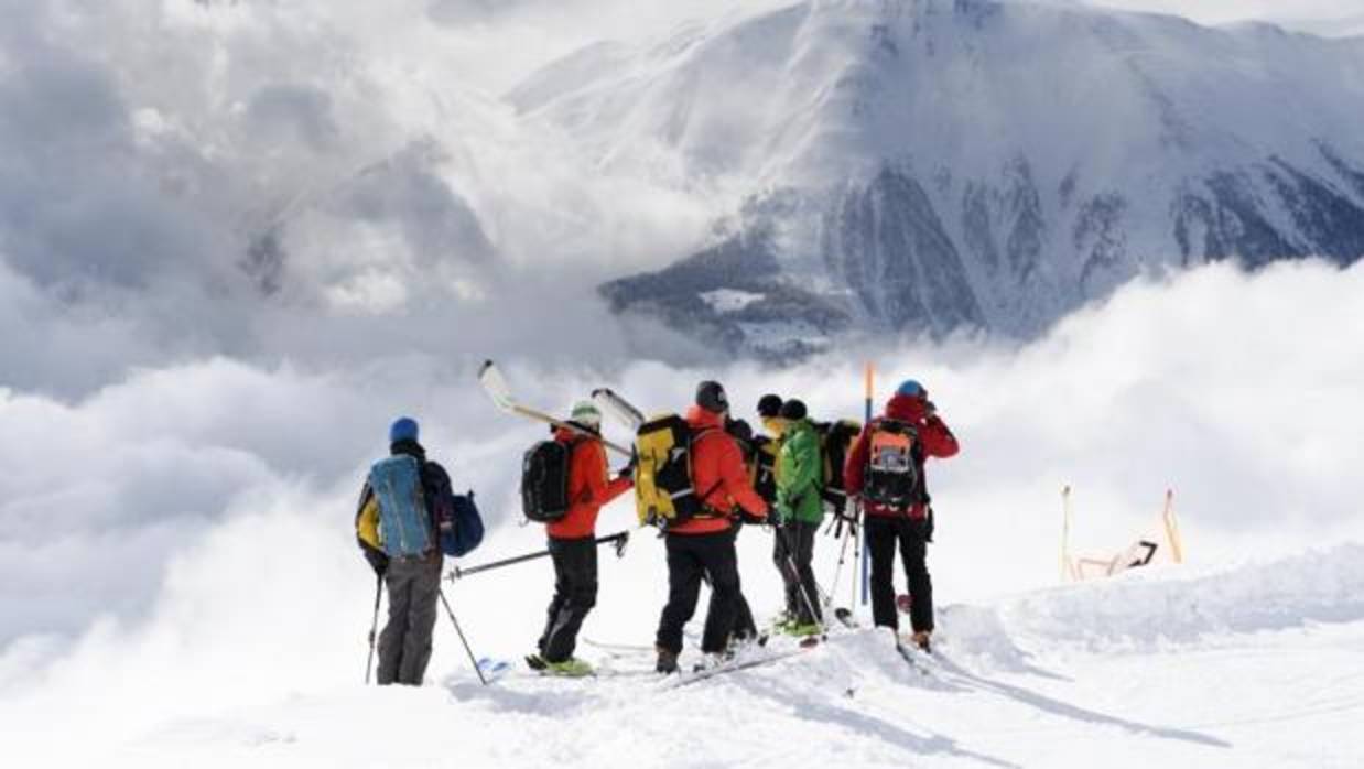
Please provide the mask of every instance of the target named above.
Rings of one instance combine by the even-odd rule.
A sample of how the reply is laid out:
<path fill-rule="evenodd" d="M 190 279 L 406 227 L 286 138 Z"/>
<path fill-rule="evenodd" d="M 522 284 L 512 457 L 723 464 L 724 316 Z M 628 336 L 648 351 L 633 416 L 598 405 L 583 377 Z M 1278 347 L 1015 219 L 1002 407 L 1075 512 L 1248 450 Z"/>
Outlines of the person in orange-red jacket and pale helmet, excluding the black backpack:
<path fill-rule="evenodd" d="M 569 511 L 547 525 L 550 558 L 554 560 L 554 599 L 546 612 L 540 635 L 544 669 L 559 675 L 588 675 L 592 668 L 573 657 L 578 630 L 596 605 L 597 558 L 596 519 L 602 506 L 629 491 L 630 469 L 608 479 L 606 449 L 602 446 L 602 413 L 591 401 L 573 406 L 569 421 L 587 431 L 559 428 L 554 439 L 572 446 L 569 454 Z"/>

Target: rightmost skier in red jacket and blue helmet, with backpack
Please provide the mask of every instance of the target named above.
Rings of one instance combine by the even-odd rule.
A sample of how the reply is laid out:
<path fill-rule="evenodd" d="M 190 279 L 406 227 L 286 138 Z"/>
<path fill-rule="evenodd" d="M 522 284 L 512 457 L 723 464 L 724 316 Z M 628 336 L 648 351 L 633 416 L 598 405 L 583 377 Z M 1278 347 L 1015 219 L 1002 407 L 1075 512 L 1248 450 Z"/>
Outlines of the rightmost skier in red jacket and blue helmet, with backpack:
<path fill-rule="evenodd" d="M 872 558 L 872 618 L 899 631 L 895 607 L 895 545 L 910 588 L 914 642 L 929 648 L 933 633 L 933 581 L 925 558 L 933 540 L 933 509 L 923 476 L 929 457 L 952 457 L 956 436 L 937 416 L 928 390 L 908 379 L 872 420 L 848 451 L 843 483 L 866 513 L 866 547 Z"/>

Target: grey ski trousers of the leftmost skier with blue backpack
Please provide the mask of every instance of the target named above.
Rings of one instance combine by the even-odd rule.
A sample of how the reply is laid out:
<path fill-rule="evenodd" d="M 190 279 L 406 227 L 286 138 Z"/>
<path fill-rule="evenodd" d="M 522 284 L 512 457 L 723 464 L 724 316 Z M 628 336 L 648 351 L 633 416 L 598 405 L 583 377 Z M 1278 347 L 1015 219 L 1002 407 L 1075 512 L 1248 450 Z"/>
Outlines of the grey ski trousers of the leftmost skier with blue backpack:
<path fill-rule="evenodd" d="M 441 554 L 390 559 L 383 584 L 389 589 L 389 622 L 379 634 L 379 684 L 421 686 L 441 596 Z"/>

